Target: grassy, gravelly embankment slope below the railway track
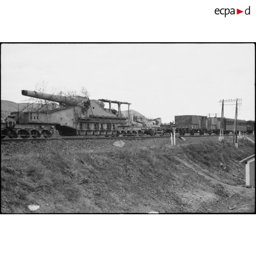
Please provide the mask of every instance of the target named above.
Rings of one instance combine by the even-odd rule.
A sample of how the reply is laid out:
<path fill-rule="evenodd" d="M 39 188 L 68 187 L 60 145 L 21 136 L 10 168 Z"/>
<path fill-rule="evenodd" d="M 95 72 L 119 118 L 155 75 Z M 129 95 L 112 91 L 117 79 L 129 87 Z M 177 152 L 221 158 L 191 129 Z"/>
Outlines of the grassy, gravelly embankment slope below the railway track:
<path fill-rule="evenodd" d="M 1 211 L 204 212 L 245 184 L 238 161 L 253 153 L 247 140 L 210 140 L 2 156 Z"/>

